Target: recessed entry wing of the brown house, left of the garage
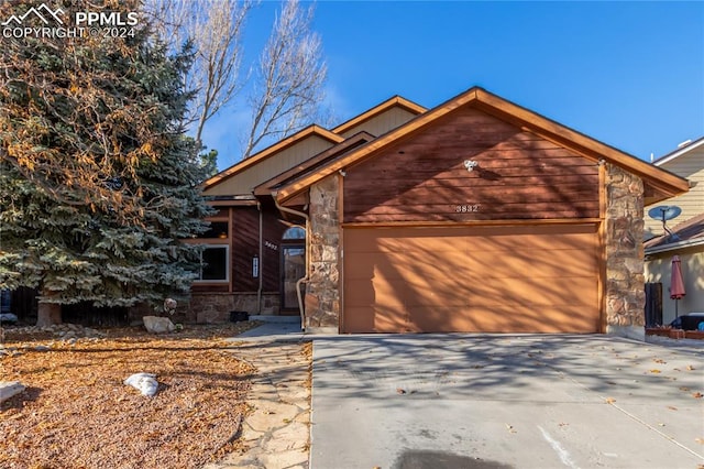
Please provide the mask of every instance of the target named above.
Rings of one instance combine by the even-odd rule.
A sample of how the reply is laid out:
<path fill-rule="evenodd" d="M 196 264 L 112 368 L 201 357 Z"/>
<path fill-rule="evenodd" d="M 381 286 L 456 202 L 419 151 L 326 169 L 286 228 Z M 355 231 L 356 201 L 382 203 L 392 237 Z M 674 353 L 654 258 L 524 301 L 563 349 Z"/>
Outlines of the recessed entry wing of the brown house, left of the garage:
<path fill-rule="evenodd" d="M 207 268 L 194 283 L 186 319 L 217 323 L 237 310 L 299 315 L 305 218 L 277 207 L 263 183 L 276 184 L 277 177 L 317 167 L 425 111 L 393 97 L 332 131 L 302 129 L 206 181 L 204 193 L 218 214 L 208 219 L 211 229 L 195 240 L 206 244 Z"/>

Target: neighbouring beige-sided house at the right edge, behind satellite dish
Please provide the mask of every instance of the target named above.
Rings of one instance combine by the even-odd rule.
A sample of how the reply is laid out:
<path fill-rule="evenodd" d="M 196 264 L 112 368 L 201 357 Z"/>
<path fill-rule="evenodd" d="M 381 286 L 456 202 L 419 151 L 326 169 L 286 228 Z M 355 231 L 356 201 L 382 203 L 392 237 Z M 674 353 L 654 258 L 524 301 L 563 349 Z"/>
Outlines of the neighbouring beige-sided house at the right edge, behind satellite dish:
<path fill-rule="evenodd" d="M 656 321 L 670 324 L 675 315 L 704 313 L 704 137 L 681 145 L 652 164 L 688 178 L 692 185 L 686 194 L 646 207 L 649 210 L 675 206 L 681 210 L 667 222 L 672 234 L 663 229 L 662 221 L 646 219 L 646 282 L 656 287 L 653 296 L 662 298 L 662 309 L 658 310 Z M 676 302 L 670 298 L 668 291 L 674 255 L 680 259 L 686 292 Z"/>

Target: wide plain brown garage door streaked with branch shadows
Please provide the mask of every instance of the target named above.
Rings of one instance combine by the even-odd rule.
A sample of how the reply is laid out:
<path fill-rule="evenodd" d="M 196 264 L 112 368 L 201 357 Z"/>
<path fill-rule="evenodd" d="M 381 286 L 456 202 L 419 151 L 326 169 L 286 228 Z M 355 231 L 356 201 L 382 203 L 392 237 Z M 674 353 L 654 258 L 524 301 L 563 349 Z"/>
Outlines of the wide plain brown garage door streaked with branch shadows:
<path fill-rule="evenodd" d="M 596 332 L 594 225 L 345 228 L 344 332 Z"/>

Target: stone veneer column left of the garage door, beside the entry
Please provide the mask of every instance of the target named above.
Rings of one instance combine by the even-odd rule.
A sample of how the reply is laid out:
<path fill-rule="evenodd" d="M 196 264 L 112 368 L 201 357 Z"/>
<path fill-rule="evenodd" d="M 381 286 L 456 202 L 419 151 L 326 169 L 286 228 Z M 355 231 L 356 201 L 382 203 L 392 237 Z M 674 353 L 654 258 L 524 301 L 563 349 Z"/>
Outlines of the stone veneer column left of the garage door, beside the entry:
<path fill-rule="evenodd" d="M 306 285 L 306 331 L 338 332 L 340 320 L 340 210 L 338 176 L 310 188 L 310 279 Z"/>

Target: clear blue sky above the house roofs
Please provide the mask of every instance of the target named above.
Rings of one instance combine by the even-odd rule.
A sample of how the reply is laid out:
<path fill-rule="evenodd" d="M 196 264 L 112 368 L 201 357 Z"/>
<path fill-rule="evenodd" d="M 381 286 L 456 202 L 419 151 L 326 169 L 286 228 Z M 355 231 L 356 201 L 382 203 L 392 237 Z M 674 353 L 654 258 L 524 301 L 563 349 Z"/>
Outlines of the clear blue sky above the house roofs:
<path fill-rule="evenodd" d="M 250 61 L 278 8 L 252 13 Z M 395 95 L 430 109 L 481 86 L 646 161 L 704 137 L 701 1 L 319 0 L 314 30 L 334 124 Z M 246 118 L 235 103 L 206 126 L 220 170 L 240 161 Z"/>

